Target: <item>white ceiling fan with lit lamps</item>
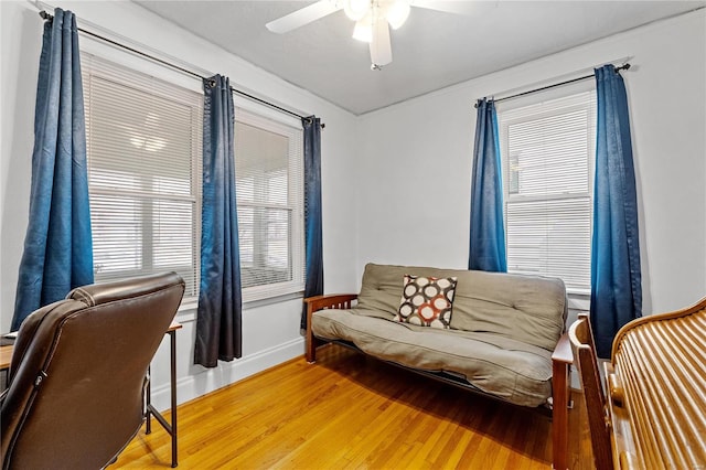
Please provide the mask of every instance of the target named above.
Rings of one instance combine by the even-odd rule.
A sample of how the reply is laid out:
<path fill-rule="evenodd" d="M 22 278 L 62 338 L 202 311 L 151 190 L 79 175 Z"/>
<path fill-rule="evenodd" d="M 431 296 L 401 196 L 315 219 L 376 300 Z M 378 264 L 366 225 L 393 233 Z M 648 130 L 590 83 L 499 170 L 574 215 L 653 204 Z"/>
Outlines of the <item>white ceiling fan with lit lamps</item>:
<path fill-rule="evenodd" d="M 393 62 L 389 28 L 402 26 L 409 15 L 410 7 L 468 14 L 468 4 L 462 0 L 319 0 L 266 24 L 274 33 L 284 34 L 317 21 L 339 10 L 355 21 L 353 38 L 370 43 L 371 70 L 379 71 Z"/>

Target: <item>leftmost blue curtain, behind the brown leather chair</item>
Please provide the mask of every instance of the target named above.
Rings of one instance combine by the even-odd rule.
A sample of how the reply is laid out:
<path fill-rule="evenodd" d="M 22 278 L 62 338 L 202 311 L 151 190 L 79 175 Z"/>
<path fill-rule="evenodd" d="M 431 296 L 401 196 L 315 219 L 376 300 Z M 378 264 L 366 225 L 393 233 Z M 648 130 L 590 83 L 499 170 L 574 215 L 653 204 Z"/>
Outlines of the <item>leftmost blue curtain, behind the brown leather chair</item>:
<path fill-rule="evenodd" d="M 38 308 L 93 284 L 84 93 L 76 17 L 44 23 L 34 109 L 30 216 L 12 330 Z"/>

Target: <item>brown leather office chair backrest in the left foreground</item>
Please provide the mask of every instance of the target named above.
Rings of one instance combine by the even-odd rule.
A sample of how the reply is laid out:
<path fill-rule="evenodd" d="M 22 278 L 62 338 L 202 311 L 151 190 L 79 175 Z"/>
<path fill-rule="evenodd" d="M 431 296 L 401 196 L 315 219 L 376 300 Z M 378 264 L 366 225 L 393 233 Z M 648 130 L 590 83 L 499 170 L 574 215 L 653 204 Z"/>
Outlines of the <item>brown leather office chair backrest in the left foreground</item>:
<path fill-rule="evenodd" d="M 22 323 L 2 468 L 101 468 L 139 431 L 147 368 L 184 292 L 174 273 L 74 289 Z"/>

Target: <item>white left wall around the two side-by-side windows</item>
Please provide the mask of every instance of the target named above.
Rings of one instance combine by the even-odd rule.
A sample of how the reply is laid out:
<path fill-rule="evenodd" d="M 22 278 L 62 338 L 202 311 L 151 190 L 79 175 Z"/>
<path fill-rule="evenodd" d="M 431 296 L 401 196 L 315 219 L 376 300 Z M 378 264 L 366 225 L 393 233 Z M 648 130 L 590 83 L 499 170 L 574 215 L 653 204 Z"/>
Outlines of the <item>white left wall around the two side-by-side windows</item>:
<path fill-rule="evenodd" d="M 356 119 L 252 64 L 217 49 L 202 39 L 164 22 L 131 2 L 56 2 L 77 14 L 79 26 L 125 39 L 138 49 L 172 61 L 231 77 L 231 83 L 300 114 L 315 114 L 325 122 L 322 131 L 322 192 L 324 273 L 328 291 L 355 288 L 355 213 L 353 185 L 349 175 L 355 162 Z M 26 229 L 34 99 L 43 21 L 29 1 L 0 2 L 0 331 L 9 331 L 18 267 Z M 129 38 L 129 40 L 127 40 Z M 116 60 L 119 51 L 81 38 L 82 46 Z M 200 71 L 197 71 L 200 72 Z M 204 72 L 205 73 L 205 72 Z M 200 89 L 197 79 L 181 77 L 184 86 Z M 178 332 L 178 376 L 180 403 L 199 396 L 288 359 L 303 354 L 299 332 L 301 298 L 275 303 L 246 306 L 243 318 L 244 357 L 222 363 L 215 370 L 193 365 L 195 312 L 178 313 L 184 328 Z M 153 363 L 154 403 L 169 407 L 167 388 L 168 341 Z"/>

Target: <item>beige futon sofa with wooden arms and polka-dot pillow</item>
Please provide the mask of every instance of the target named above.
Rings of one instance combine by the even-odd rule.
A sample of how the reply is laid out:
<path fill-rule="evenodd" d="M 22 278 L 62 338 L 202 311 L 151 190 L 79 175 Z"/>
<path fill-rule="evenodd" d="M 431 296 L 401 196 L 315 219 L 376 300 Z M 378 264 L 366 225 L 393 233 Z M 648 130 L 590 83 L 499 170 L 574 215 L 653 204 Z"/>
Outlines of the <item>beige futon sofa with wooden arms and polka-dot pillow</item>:
<path fill-rule="evenodd" d="M 335 342 L 515 405 L 550 407 L 553 386 L 555 403 L 568 403 L 560 279 L 368 264 L 360 293 L 304 301 L 310 363 L 319 345 Z M 554 418 L 556 457 L 566 449 L 566 406 Z"/>

